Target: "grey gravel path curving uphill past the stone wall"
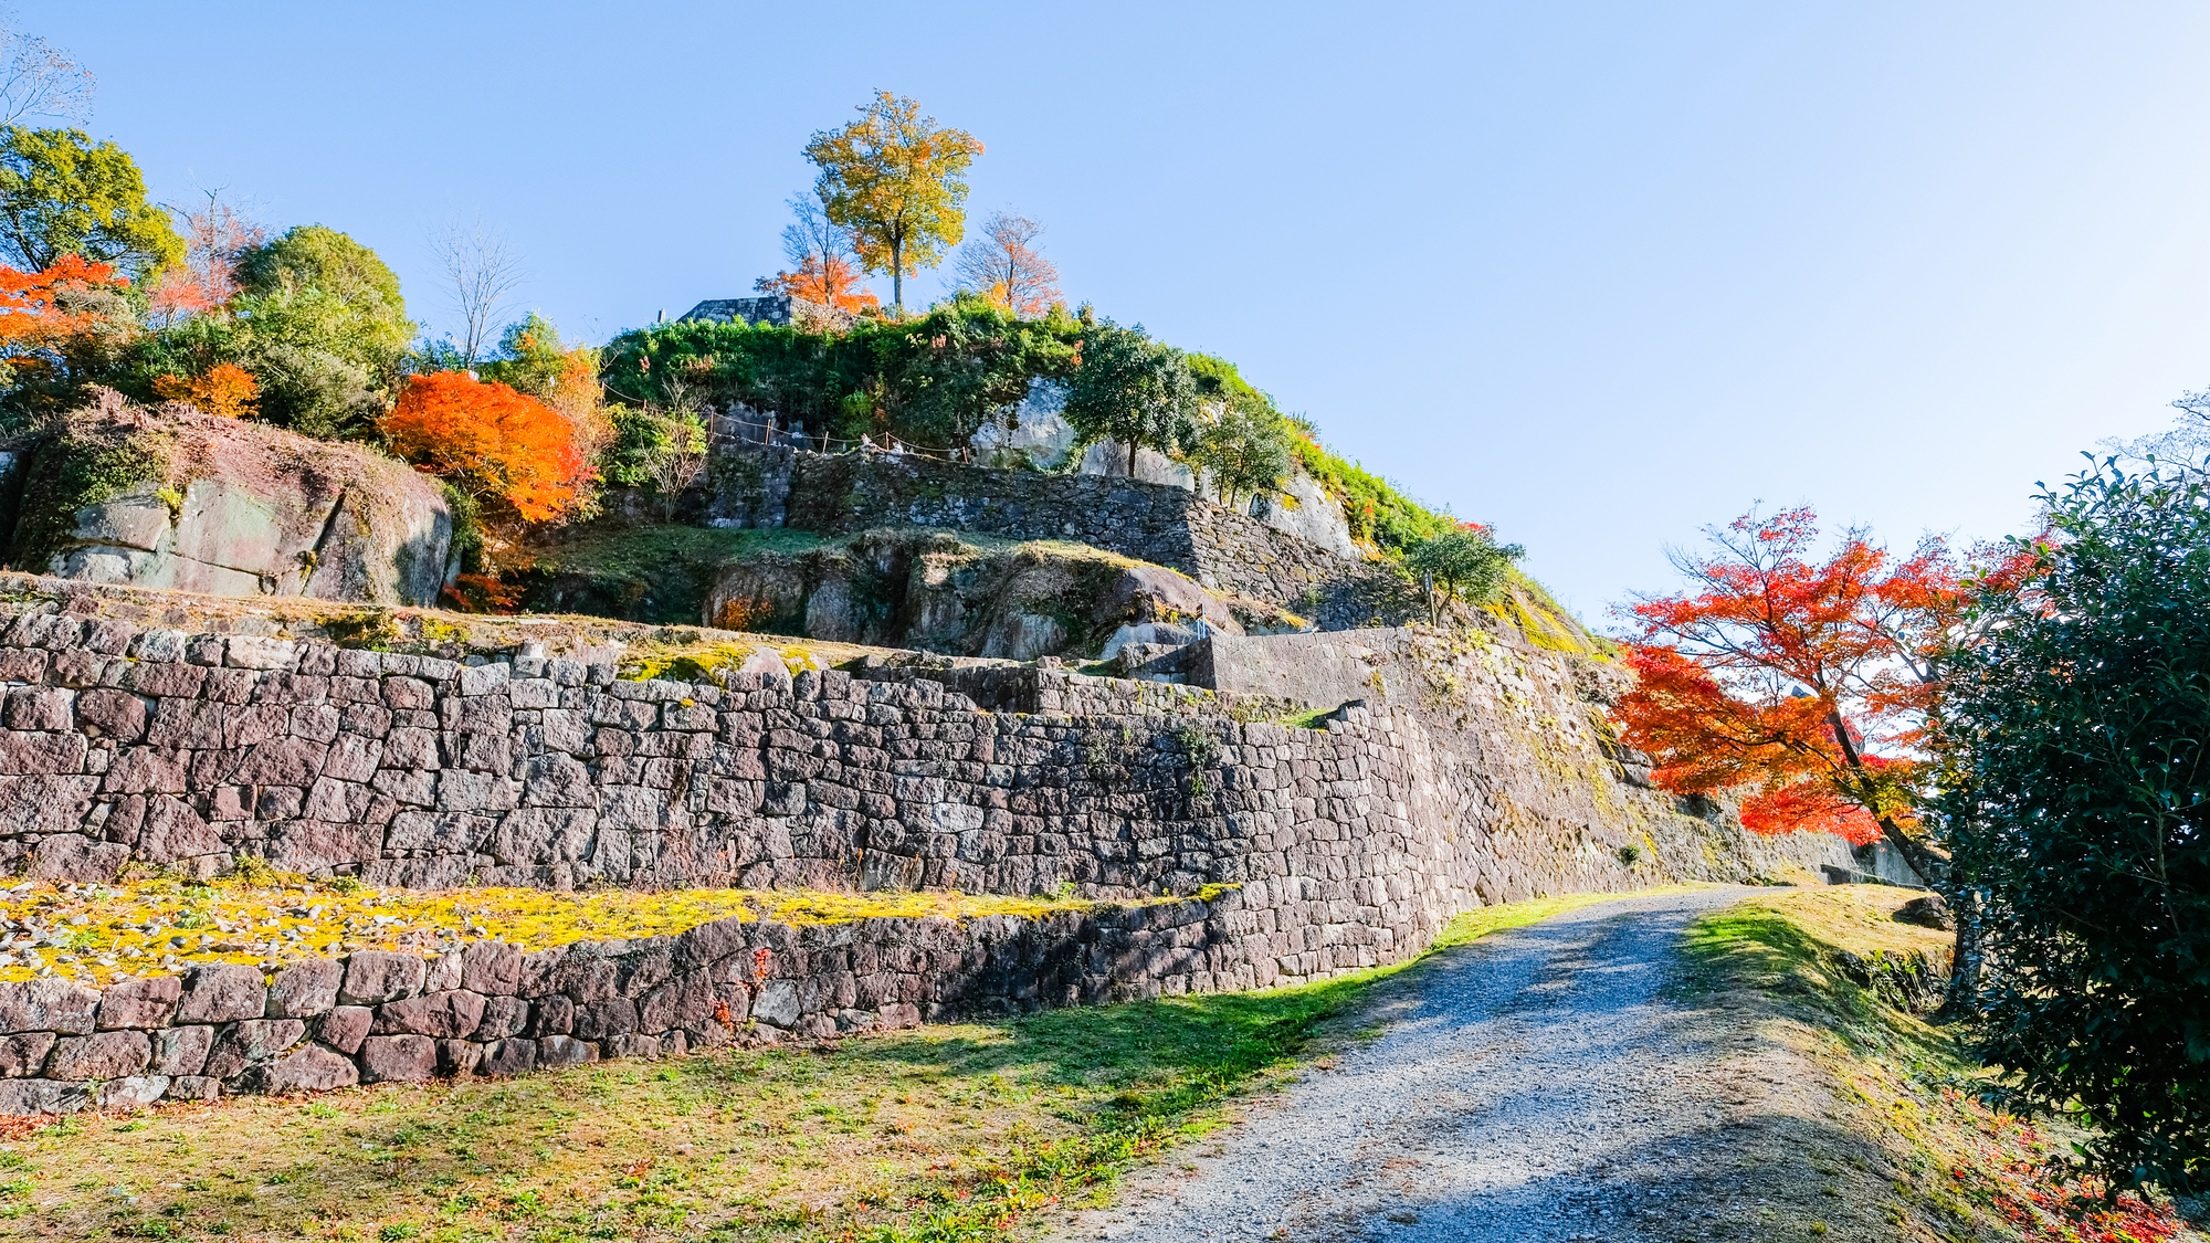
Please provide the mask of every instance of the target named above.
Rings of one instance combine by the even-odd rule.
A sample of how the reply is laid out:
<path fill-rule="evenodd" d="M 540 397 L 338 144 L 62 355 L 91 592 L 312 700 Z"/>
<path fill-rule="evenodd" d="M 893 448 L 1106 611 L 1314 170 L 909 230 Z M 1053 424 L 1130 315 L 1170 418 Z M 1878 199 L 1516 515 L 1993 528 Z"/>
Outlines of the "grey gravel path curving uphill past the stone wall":
<path fill-rule="evenodd" d="M 1123 1208 L 1081 1214 L 1067 1234 L 1757 1236 L 1775 1212 L 1757 1197 L 1783 1192 L 1724 1170 L 1746 1163 L 1744 1132 L 1819 1119 L 1821 1101 L 1786 1051 L 1759 1048 L 1724 1009 L 1662 995 L 1688 920 L 1741 894 L 1600 902 L 1436 955 L 1381 1006 L 1379 1040 L 1202 1155 L 1176 1152 L 1132 1181 Z"/>

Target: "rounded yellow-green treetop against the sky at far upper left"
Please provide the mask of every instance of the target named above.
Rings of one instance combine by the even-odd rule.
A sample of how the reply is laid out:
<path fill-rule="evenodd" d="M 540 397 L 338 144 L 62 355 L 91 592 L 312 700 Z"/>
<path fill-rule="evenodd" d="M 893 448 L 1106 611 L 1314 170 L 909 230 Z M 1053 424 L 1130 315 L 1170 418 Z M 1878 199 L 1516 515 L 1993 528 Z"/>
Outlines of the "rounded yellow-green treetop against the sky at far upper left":
<path fill-rule="evenodd" d="M 0 252 L 27 272 L 82 254 L 144 281 L 183 263 L 183 239 L 146 201 L 124 148 L 84 130 L 0 126 Z"/>

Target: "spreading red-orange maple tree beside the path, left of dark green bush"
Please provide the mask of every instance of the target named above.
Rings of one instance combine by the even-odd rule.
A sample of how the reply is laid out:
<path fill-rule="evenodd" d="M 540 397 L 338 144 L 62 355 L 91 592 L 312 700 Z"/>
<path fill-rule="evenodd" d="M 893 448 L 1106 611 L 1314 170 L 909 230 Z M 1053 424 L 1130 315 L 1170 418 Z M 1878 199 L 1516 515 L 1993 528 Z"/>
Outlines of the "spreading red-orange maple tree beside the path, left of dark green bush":
<path fill-rule="evenodd" d="M 1969 577 L 1936 537 L 1907 557 L 1843 531 L 1812 557 L 1808 506 L 1713 529 L 1713 553 L 1675 553 L 1680 595 L 1644 595 L 1616 714 L 1675 794 L 1750 790 L 1744 827 L 1885 838 L 1929 880 L 1943 856 L 1918 836 L 1927 710 L 1956 641 Z"/>

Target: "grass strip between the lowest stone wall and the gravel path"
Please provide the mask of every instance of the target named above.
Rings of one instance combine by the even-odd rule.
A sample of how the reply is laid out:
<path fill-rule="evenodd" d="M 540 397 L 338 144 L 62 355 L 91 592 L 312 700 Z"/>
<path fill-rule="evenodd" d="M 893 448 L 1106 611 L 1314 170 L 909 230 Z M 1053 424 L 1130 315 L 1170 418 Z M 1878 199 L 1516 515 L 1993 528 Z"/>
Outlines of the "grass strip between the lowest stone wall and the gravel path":
<path fill-rule="evenodd" d="M 1439 947 L 1602 898 L 1490 907 Z M 1220 1126 L 1395 971 L 811 1051 L 18 1121 L 0 1221 L 40 1239 L 1012 1239 Z"/>

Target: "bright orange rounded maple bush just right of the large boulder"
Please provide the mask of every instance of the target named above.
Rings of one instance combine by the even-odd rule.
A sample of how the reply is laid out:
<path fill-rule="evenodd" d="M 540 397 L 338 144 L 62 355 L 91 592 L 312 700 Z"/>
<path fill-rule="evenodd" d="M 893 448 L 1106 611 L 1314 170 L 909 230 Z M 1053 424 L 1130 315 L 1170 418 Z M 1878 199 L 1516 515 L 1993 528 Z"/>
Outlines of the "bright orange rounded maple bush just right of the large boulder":
<path fill-rule="evenodd" d="M 594 478 L 557 409 L 466 372 L 409 376 L 382 429 L 415 467 L 506 502 L 524 522 L 566 513 Z"/>

